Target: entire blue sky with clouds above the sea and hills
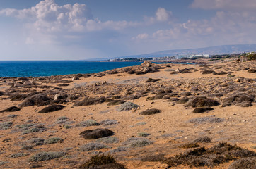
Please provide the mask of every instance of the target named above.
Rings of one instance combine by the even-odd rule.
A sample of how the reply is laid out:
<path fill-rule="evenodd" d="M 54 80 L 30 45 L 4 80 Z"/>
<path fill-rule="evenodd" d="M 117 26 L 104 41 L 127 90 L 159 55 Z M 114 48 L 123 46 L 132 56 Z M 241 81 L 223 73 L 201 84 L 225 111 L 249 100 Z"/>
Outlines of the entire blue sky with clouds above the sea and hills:
<path fill-rule="evenodd" d="M 256 44 L 256 0 L 0 0 L 0 61 Z"/>

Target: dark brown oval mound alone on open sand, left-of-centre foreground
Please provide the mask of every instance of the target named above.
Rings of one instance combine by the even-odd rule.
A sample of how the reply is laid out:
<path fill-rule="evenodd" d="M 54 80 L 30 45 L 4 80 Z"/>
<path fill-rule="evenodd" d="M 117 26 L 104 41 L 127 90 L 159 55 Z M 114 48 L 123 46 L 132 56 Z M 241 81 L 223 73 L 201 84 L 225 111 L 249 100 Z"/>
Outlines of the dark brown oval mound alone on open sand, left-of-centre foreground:
<path fill-rule="evenodd" d="M 81 132 L 81 135 L 84 139 L 99 139 L 102 137 L 112 136 L 114 132 L 108 129 L 95 129 L 95 130 L 86 130 Z"/>

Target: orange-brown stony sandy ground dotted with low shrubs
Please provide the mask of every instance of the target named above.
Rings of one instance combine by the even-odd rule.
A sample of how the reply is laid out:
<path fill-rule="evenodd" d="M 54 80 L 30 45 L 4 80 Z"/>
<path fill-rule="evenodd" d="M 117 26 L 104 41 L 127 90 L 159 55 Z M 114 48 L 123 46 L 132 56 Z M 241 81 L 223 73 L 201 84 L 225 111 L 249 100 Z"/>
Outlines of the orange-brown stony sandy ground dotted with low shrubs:
<path fill-rule="evenodd" d="M 78 168 L 96 154 L 112 154 L 125 168 L 253 161 L 255 72 L 255 61 L 231 60 L 1 77 L 0 166 Z"/>

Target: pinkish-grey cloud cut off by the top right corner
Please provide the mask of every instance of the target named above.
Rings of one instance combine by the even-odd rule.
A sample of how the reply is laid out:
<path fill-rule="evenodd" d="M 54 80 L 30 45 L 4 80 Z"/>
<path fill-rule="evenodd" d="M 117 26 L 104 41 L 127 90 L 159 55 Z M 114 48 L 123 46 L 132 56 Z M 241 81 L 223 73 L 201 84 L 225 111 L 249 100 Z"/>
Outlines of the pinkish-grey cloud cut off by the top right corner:
<path fill-rule="evenodd" d="M 255 10 L 255 0 L 194 0 L 192 8 Z"/>

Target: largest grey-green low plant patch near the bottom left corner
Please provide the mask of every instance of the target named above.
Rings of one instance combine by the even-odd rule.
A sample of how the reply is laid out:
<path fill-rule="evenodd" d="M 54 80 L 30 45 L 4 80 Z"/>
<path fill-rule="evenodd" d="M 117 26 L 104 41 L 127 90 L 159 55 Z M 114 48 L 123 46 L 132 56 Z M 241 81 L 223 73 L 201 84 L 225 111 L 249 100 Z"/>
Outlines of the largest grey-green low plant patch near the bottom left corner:
<path fill-rule="evenodd" d="M 31 156 L 28 161 L 30 162 L 37 162 L 37 161 L 47 161 L 52 160 L 54 158 L 60 158 L 65 156 L 63 151 L 53 151 L 53 152 L 40 152 L 38 154 L 34 154 Z"/>

